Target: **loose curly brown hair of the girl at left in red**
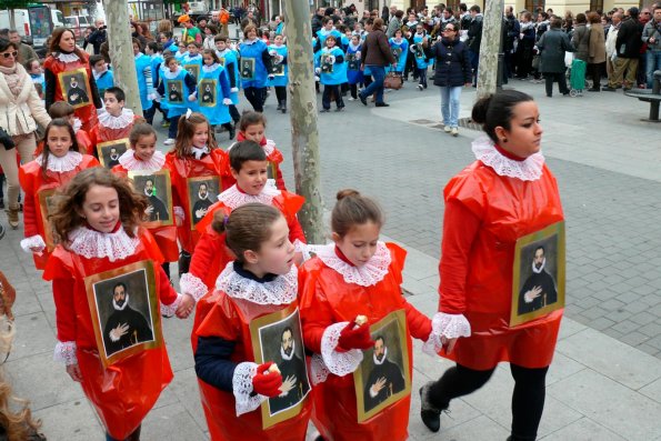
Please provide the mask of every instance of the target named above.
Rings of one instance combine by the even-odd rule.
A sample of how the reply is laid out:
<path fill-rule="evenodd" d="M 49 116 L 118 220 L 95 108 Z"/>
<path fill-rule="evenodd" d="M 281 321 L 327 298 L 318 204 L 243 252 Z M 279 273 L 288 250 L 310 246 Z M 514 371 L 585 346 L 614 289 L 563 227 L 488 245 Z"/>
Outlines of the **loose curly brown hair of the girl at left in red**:
<path fill-rule="evenodd" d="M 56 240 L 66 243 L 69 240 L 69 233 L 86 223 L 79 212 L 92 186 L 109 187 L 117 191 L 120 221 L 127 234 L 134 238 L 136 228 L 140 224 L 148 207 L 147 198 L 137 193 L 127 178 L 114 174 L 108 169 L 94 167 L 80 171 L 64 188 L 51 220 Z"/>

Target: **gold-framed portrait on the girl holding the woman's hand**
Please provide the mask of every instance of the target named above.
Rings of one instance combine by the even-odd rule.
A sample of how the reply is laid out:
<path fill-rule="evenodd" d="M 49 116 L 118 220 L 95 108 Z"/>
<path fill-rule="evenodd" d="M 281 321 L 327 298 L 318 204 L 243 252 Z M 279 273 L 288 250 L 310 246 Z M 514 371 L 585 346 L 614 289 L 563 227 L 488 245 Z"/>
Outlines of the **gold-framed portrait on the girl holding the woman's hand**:
<path fill-rule="evenodd" d="M 393 311 L 370 325 L 370 334 L 374 347 L 363 351 L 353 372 L 358 422 L 411 393 L 405 311 Z"/>

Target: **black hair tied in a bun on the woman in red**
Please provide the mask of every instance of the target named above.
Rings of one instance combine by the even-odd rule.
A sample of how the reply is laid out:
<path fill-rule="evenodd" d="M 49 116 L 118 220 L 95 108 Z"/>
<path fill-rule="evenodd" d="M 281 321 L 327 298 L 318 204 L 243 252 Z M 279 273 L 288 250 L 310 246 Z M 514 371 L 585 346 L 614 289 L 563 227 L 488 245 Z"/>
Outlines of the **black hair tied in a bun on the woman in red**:
<path fill-rule="evenodd" d="M 509 131 L 511 129 L 512 110 L 517 104 L 527 101 L 533 101 L 528 93 L 518 90 L 503 90 L 478 100 L 473 106 L 471 119 L 482 124 L 482 130 L 489 138 L 499 143 L 495 128 L 502 127 Z"/>

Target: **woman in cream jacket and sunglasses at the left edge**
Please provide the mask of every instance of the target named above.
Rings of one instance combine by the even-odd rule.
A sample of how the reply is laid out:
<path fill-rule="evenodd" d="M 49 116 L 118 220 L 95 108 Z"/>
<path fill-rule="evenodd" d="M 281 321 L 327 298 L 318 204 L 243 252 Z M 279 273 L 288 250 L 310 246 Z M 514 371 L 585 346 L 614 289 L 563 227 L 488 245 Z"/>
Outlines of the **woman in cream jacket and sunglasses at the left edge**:
<path fill-rule="evenodd" d="M 18 48 L 0 39 L 0 168 L 7 178 L 7 218 L 19 227 L 19 170 L 17 153 L 30 161 L 37 149 L 37 122 L 47 127 L 48 116 L 30 74 L 17 61 Z"/>

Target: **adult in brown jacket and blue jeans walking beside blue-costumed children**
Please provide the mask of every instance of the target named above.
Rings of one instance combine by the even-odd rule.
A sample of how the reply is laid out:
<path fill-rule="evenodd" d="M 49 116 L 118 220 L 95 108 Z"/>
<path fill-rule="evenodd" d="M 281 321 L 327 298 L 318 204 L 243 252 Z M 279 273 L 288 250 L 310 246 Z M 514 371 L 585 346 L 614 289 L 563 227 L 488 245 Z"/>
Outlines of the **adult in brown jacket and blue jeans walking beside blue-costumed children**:
<path fill-rule="evenodd" d="M 372 74 L 372 82 L 370 86 L 358 94 L 360 102 L 367 106 L 367 97 L 375 93 L 375 107 L 390 106 L 383 102 L 383 80 L 385 79 L 385 67 L 392 64 L 392 69 L 394 70 L 397 60 L 390 50 L 388 37 L 385 37 L 385 33 L 383 32 L 383 20 L 374 19 L 372 31 L 365 37 L 360 56 L 361 70 L 364 70 L 364 68 L 368 67 Z"/>

